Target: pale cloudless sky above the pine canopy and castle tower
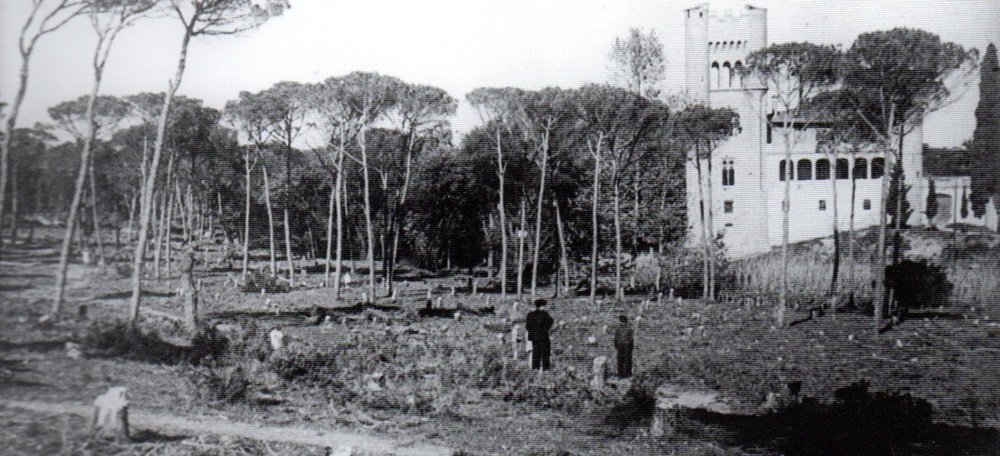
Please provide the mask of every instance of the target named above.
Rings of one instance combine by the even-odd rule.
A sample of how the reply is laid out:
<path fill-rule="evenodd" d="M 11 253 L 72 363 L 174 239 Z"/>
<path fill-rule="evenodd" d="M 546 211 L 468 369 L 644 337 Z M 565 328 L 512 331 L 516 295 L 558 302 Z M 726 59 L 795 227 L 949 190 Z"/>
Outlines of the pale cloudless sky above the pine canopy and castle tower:
<path fill-rule="evenodd" d="M 51 0 L 48 0 L 51 1 Z M 0 100 L 17 89 L 17 34 L 29 0 L 0 0 Z M 428 84 L 461 101 L 452 127 L 480 123 L 464 102 L 477 87 L 575 88 L 611 82 L 608 54 L 631 27 L 663 43 L 662 89 L 684 85 L 684 14 L 702 1 L 673 0 L 291 0 L 292 8 L 258 29 L 192 41 L 179 94 L 221 109 L 240 91 L 280 81 L 313 83 L 374 71 Z M 810 41 L 849 47 L 861 33 L 920 28 L 984 52 L 1000 44 L 1000 0 L 710 1 L 713 10 L 767 8 L 771 43 Z M 163 92 L 176 70 L 182 29 L 175 18 L 145 19 L 115 42 L 102 93 Z M 31 62 L 19 126 L 49 121 L 46 109 L 90 92 L 96 42 L 86 20 L 43 37 Z M 964 84 L 963 84 L 964 82 Z M 924 142 L 958 146 L 971 138 L 978 76 L 952 83 L 961 93 L 925 122 Z M 964 88 L 963 88 L 964 87 Z"/>

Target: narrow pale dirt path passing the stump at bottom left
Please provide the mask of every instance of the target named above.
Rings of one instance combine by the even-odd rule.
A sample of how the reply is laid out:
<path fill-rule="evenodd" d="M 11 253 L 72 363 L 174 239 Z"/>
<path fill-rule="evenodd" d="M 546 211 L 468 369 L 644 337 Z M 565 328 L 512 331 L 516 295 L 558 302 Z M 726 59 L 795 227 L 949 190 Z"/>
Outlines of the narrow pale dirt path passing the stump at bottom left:
<path fill-rule="evenodd" d="M 86 419 L 90 419 L 93 413 L 91 406 L 74 403 L 0 399 L 0 407 L 23 409 L 47 415 L 74 414 Z M 151 429 L 158 433 L 216 434 L 269 442 L 327 447 L 333 450 L 331 454 L 351 454 L 352 451 L 400 456 L 453 454 L 452 450 L 443 446 L 402 442 L 364 434 L 298 427 L 259 426 L 208 416 L 180 417 L 135 408 L 129 410 L 129 424 L 133 429 Z"/>

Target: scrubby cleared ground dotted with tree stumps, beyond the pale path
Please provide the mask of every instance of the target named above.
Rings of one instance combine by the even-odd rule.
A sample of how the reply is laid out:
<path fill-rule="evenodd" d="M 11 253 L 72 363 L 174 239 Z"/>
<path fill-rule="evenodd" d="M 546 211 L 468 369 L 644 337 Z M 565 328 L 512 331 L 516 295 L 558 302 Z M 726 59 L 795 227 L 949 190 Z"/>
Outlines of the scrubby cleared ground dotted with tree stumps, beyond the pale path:
<path fill-rule="evenodd" d="M 597 305 L 562 296 L 551 301 L 555 368 L 539 376 L 527 369 L 523 353 L 519 361 L 511 359 L 509 328 L 523 318 L 523 307 L 512 313 L 510 303 L 500 303 L 494 293 L 472 296 L 462 276 L 404 270 L 410 280 L 397 284 L 396 301 L 355 306 L 363 288 L 345 290 L 338 301 L 321 287 L 320 272 L 307 274 L 288 292 L 261 294 L 241 289 L 238 271 L 202 263 L 196 272 L 203 321 L 216 329 L 192 341 L 178 321 L 164 316 L 180 315 L 183 307 L 171 291 L 178 277 L 171 276 L 151 284 L 151 305 L 135 339 L 124 326 L 109 323 L 121 316 L 127 296 L 127 279 L 114 268 L 73 265 L 81 285 L 69 296 L 88 306 L 88 317 L 36 323 L 45 310 L 36 303 L 50 286 L 44 273 L 51 267 L 46 252 L 52 251 L 25 247 L 19 249 L 23 257 L 11 260 L 21 266 L 3 266 L 5 309 L 12 317 L 2 323 L 9 334 L 3 358 L 23 368 L 4 371 L 7 398 L 87 403 L 109 386 L 125 385 L 136 407 L 163 413 L 418 436 L 472 454 L 816 454 L 809 449 L 823 439 L 844 438 L 910 454 L 996 450 L 995 304 L 952 296 L 951 305 L 914 309 L 907 320 L 877 334 L 863 310 L 814 315 L 807 305 L 790 310 L 792 326 L 775 328 L 766 296 L 758 304 L 642 294 Z M 804 264 L 805 258 L 817 265 L 823 258 L 808 246 L 793 252 Z M 962 252 L 963 261 L 978 258 Z M 263 267 L 266 256 L 262 260 L 257 264 Z M 428 287 L 443 307 L 466 309 L 461 317 L 420 317 Z M 641 315 L 636 377 L 595 390 L 591 364 L 612 355 L 604 327 L 618 313 Z M 273 328 L 285 335 L 278 350 L 269 342 Z M 65 341 L 81 344 L 85 356 L 68 358 Z M 788 385 L 797 382 L 801 388 L 791 396 Z M 854 401 L 871 413 L 926 415 L 918 420 L 925 424 L 924 437 L 831 424 L 855 413 L 839 391 L 862 382 L 868 389 Z M 734 414 L 689 415 L 678 433 L 657 437 L 650 426 L 656 389 L 663 384 L 716 392 Z M 840 405 L 816 408 L 804 397 Z M 885 412 L 879 412 L 882 407 Z M 793 416 L 799 425 L 781 424 Z M 827 432 L 792 431 L 809 426 Z M 922 440 L 927 436 L 936 443 L 928 446 Z"/>

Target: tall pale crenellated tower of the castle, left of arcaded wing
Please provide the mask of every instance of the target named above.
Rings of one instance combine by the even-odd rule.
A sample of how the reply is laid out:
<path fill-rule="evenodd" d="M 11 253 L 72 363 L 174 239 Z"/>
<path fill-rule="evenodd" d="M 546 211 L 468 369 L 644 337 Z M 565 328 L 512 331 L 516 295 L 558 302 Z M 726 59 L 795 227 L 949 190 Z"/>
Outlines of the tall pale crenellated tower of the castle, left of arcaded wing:
<path fill-rule="evenodd" d="M 687 166 L 688 224 L 692 241 L 701 242 L 702 198 L 708 203 L 711 179 L 713 229 L 723 233 L 730 256 L 765 251 L 768 210 L 762 113 L 766 89 L 756 79 L 743 80 L 747 55 L 767 45 L 767 10 L 750 5 L 737 12 L 711 11 L 707 4 L 685 10 L 685 75 L 688 97 L 710 108 L 729 108 L 740 116 L 738 134 L 712 153 L 712 163 Z M 750 89 L 750 90 L 747 90 Z M 711 175 L 708 169 L 711 168 Z M 739 226 L 736 226 L 739 225 Z"/>

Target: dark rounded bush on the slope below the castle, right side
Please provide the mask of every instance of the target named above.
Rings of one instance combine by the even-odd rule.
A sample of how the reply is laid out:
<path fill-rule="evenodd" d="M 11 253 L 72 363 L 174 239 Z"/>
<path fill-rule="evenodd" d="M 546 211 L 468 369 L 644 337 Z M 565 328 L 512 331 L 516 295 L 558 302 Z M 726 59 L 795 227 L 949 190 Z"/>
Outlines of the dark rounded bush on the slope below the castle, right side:
<path fill-rule="evenodd" d="M 903 260 L 885 271 L 886 286 L 892 288 L 899 308 L 943 306 L 948 303 L 952 284 L 944 268 L 925 260 Z"/>

